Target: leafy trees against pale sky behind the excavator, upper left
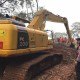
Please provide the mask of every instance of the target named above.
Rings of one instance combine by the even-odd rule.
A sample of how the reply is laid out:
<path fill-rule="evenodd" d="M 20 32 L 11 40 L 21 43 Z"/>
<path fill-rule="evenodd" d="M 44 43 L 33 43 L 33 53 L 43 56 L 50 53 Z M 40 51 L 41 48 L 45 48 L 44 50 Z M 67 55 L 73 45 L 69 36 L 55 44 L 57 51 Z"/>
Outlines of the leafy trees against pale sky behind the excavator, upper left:
<path fill-rule="evenodd" d="M 28 20 L 34 15 L 33 12 L 34 3 L 33 0 L 0 0 L 0 13 L 9 14 L 9 15 L 19 15 L 23 18 L 23 14 L 25 18 Z"/>

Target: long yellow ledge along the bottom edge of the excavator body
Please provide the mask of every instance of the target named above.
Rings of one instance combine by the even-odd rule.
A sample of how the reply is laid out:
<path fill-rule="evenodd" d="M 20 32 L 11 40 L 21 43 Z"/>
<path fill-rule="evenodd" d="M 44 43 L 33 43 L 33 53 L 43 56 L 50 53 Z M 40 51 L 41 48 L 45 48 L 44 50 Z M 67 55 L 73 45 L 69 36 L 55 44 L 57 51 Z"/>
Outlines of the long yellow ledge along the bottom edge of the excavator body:
<path fill-rule="evenodd" d="M 10 56 L 18 56 L 31 54 L 39 51 L 44 51 L 47 49 L 51 49 L 53 47 L 36 47 L 36 48 L 27 48 L 27 49 L 18 49 L 18 50 L 0 50 L 0 57 L 10 57 Z"/>

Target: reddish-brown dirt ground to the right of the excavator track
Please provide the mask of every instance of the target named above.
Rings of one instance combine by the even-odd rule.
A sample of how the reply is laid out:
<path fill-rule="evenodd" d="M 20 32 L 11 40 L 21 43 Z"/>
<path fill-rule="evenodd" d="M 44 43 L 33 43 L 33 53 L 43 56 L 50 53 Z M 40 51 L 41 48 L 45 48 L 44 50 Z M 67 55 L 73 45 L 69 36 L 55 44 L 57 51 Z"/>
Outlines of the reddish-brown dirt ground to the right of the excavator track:
<path fill-rule="evenodd" d="M 32 80 L 76 80 L 76 49 L 60 44 L 54 45 L 53 51 L 63 54 L 63 61 L 59 65 L 42 72 Z"/>

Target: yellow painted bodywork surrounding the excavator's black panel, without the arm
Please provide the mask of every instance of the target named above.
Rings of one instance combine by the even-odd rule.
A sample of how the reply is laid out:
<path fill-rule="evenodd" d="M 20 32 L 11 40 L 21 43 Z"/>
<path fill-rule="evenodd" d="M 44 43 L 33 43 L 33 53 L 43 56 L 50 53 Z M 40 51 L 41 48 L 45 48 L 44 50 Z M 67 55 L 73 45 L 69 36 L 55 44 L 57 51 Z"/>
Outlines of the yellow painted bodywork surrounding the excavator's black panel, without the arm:
<path fill-rule="evenodd" d="M 0 42 L 3 42 L 3 49 L 0 49 L 0 57 L 19 56 L 51 49 L 48 46 L 48 35 L 46 32 L 25 28 L 20 26 L 21 30 L 26 30 L 29 36 L 29 48 L 18 49 L 18 25 L 14 25 L 9 21 L 3 21 L 0 25 Z M 3 34 L 4 33 L 4 34 Z M 2 37 L 4 36 L 4 37 Z M 23 40 L 22 38 L 20 38 Z"/>

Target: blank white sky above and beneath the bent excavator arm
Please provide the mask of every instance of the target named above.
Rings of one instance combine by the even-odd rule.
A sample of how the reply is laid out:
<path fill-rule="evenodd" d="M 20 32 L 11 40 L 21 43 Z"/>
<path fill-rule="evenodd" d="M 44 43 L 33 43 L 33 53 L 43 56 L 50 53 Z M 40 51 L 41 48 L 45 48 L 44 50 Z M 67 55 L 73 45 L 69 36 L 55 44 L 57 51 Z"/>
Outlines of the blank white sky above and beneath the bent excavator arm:
<path fill-rule="evenodd" d="M 74 22 L 80 21 L 80 0 L 38 0 L 39 6 L 68 19 L 70 30 Z M 46 28 L 54 32 L 66 32 L 64 24 L 47 22 Z"/>

